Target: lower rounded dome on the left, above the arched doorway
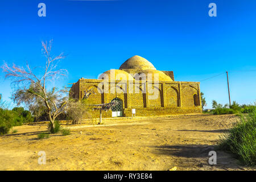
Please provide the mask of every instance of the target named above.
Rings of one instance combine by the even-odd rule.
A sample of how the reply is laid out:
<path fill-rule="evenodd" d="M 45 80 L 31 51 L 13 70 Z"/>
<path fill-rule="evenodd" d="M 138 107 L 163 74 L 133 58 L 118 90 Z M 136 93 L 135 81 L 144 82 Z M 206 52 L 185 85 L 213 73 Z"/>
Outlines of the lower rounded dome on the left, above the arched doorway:
<path fill-rule="evenodd" d="M 127 72 L 119 69 L 110 69 L 102 73 L 98 79 L 109 79 L 109 80 L 134 80 L 134 78 Z"/>

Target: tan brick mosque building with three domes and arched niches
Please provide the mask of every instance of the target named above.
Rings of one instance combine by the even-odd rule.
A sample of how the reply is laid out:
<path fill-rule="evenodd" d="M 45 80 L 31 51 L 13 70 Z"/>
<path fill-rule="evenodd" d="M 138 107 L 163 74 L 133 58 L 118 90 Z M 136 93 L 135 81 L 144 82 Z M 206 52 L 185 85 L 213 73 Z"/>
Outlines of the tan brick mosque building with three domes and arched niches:
<path fill-rule="evenodd" d="M 80 78 L 69 97 L 86 98 L 93 105 L 115 101 L 111 110 L 102 113 L 104 118 L 202 113 L 200 82 L 175 81 L 174 72 L 158 71 L 141 56 L 131 57 L 98 79 Z"/>

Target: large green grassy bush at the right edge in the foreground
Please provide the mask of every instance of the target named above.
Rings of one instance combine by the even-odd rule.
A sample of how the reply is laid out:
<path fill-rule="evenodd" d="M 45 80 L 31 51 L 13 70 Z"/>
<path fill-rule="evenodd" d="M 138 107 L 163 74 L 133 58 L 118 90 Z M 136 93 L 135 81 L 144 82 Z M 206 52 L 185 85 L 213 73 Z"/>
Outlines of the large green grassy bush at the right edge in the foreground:
<path fill-rule="evenodd" d="M 222 135 L 220 148 L 235 154 L 243 164 L 255 166 L 256 163 L 256 109 L 241 116 L 241 121 Z"/>

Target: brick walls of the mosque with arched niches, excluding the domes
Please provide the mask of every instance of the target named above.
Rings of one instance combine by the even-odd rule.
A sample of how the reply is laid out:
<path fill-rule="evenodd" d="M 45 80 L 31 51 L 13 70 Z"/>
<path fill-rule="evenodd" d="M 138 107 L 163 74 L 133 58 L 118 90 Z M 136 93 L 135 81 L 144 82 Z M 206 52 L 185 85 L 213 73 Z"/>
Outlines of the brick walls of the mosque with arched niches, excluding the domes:
<path fill-rule="evenodd" d="M 143 62 L 143 68 L 145 64 L 147 63 Z M 122 69 L 122 71 L 134 76 L 134 73 L 143 70 L 130 69 L 129 67 L 129 69 Z M 154 81 L 148 80 L 129 80 L 122 83 L 120 83 L 120 80 L 105 80 L 104 88 L 102 86 L 103 80 L 81 78 L 72 85 L 69 97 L 81 100 L 84 98 L 84 92 L 90 90 L 91 94 L 88 101 L 91 104 L 105 104 L 111 102 L 114 98 L 119 98 L 122 100 L 123 117 L 131 117 L 131 109 L 136 110 L 137 116 L 202 113 L 200 82 L 174 81 L 172 71 L 162 72 L 169 77 L 167 80 L 171 78 L 173 81 L 163 81 L 162 79 L 156 84 Z M 150 99 L 152 93 L 148 92 L 148 86 L 155 89 L 158 97 Z M 135 90 L 138 90 L 138 93 L 135 93 Z M 97 118 L 98 115 L 99 111 L 92 111 L 93 117 Z M 102 117 L 112 117 L 112 110 L 103 111 Z"/>

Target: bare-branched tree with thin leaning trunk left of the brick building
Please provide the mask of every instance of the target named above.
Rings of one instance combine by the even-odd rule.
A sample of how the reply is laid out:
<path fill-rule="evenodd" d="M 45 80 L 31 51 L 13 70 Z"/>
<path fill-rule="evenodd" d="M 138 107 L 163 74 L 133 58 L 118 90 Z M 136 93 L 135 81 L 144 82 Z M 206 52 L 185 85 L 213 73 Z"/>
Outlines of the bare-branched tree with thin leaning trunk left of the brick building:
<path fill-rule="evenodd" d="M 65 111 L 67 107 L 67 96 L 64 90 L 58 90 L 55 87 L 51 91 L 47 91 L 46 85 L 49 81 L 53 81 L 59 77 L 67 76 L 67 70 L 56 70 L 57 63 L 64 59 L 63 53 L 59 56 L 51 56 L 52 41 L 42 42 L 42 53 L 46 57 L 46 65 L 43 68 L 43 74 L 37 76 L 34 69 L 27 64 L 25 68 L 13 64 L 9 66 L 7 63 L 2 65 L 6 78 L 13 79 L 16 84 L 13 93 L 13 100 L 19 104 L 37 104 L 40 100 L 46 107 L 51 129 L 55 128 L 55 119 L 58 115 Z M 51 130 L 52 131 L 52 130 Z"/>

